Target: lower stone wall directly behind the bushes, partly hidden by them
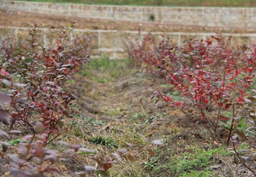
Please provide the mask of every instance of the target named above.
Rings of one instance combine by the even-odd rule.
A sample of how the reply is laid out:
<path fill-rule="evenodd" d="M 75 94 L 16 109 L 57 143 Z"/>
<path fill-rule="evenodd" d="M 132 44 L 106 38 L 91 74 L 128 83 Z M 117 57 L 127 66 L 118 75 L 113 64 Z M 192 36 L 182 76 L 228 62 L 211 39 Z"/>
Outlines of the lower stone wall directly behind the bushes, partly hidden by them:
<path fill-rule="evenodd" d="M 0 27 L 0 39 L 8 36 L 14 35 L 16 38 L 26 39 L 28 38 L 29 28 L 19 28 L 19 27 Z M 42 33 L 40 42 L 42 45 L 47 47 L 53 38 L 58 36 L 60 30 L 53 29 L 49 30 L 47 28 L 40 28 L 39 32 Z M 123 59 L 127 57 L 126 43 L 133 38 L 138 37 L 137 31 L 116 31 L 116 30 L 83 30 L 74 29 L 71 38 L 76 36 L 81 36 L 83 34 L 92 34 L 94 36 L 94 43 L 97 47 L 93 51 L 93 55 L 108 55 L 110 58 Z M 141 32 L 141 36 L 147 34 L 148 32 Z M 170 37 L 173 43 L 176 45 L 181 45 L 181 43 L 192 38 L 206 39 L 214 33 L 185 33 L 185 32 L 152 32 L 152 35 L 156 36 L 158 40 L 162 37 Z M 256 33 L 222 33 L 225 39 L 231 38 L 231 45 L 233 47 L 242 45 L 253 45 L 256 44 Z"/>

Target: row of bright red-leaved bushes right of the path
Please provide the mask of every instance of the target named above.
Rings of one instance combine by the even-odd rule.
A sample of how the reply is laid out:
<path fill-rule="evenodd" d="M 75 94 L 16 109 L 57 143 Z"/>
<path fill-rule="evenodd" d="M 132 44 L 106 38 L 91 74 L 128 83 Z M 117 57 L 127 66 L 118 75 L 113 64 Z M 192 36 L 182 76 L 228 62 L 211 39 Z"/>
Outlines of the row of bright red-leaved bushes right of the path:
<path fill-rule="evenodd" d="M 212 137 L 232 145 L 243 165 L 256 175 L 246 165 L 251 157 L 241 157 L 236 149 L 236 143 L 253 142 L 256 138 L 256 47 L 232 49 L 229 41 L 213 35 L 206 40 L 193 39 L 175 46 L 167 38 L 157 43 L 149 33 L 142 40 L 130 42 L 129 55 L 138 65 L 143 63 L 151 73 L 163 76 L 184 101 L 173 100 L 159 91 L 154 97 L 204 123 Z M 227 116 L 227 112 L 231 116 Z M 223 122 L 230 122 L 226 136 L 223 132 L 220 134 Z M 246 123 L 245 131 L 238 127 L 241 122 Z"/>

